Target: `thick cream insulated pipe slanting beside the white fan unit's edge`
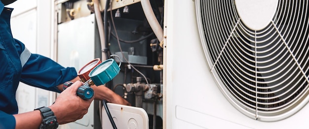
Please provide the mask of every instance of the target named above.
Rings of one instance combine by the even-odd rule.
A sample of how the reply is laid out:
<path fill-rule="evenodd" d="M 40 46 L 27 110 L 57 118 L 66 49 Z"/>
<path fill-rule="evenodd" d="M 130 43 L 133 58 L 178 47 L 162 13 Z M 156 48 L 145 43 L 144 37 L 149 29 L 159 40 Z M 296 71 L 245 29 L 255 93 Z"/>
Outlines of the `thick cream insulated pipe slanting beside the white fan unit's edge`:
<path fill-rule="evenodd" d="M 159 40 L 159 42 L 163 42 L 163 29 L 161 28 L 158 20 L 156 19 L 154 15 L 154 10 L 151 7 L 150 0 L 141 0 L 142 8 L 145 13 L 146 19 L 154 31 L 154 34 L 156 38 Z"/>

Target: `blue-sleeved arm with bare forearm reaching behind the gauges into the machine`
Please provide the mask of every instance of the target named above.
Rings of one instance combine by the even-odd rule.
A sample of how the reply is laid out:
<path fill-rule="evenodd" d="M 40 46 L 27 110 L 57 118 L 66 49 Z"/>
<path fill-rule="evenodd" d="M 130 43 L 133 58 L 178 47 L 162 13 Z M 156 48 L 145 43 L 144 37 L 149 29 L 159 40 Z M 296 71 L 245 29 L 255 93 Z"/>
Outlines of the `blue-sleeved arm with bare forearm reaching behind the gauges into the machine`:
<path fill-rule="evenodd" d="M 16 47 L 20 49 L 21 53 L 25 46 L 17 39 L 15 41 Z M 74 67 L 65 68 L 47 57 L 31 54 L 27 63 L 23 66 L 20 81 L 31 86 L 60 93 L 63 91 L 64 82 L 76 82 L 79 79 Z M 91 88 L 96 93 L 95 99 L 106 99 L 112 103 L 130 105 L 125 99 L 104 86 L 91 86 Z"/>

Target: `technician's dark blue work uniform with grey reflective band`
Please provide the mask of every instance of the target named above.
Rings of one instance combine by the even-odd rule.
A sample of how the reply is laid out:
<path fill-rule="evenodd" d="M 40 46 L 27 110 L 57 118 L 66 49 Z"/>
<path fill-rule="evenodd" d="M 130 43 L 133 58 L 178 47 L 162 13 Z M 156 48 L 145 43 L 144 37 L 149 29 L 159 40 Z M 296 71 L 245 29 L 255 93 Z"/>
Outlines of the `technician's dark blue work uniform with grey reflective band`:
<path fill-rule="evenodd" d="M 75 68 L 65 68 L 49 58 L 32 54 L 13 38 L 12 10 L 0 1 L 0 129 L 15 129 L 12 114 L 18 113 L 15 95 L 19 82 L 60 93 L 58 85 L 77 77 Z"/>

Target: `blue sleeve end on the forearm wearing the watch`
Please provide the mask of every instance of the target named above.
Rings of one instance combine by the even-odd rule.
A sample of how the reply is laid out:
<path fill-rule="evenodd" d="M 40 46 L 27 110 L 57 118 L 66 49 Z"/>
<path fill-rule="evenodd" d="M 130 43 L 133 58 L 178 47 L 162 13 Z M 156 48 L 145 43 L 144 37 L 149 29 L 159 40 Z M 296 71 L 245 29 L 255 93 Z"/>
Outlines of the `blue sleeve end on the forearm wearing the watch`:
<path fill-rule="evenodd" d="M 0 111 L 0 129 L 15 129 L 16 121 L 13 115 Z"/>

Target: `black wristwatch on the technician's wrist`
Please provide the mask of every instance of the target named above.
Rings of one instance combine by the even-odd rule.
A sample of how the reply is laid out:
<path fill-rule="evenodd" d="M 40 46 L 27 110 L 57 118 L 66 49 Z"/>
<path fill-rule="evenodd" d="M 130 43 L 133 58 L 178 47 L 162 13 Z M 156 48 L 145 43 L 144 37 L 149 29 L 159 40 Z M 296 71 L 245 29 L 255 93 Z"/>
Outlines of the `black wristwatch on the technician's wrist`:
<path fill-rule="evenodd" d="M 39 110 L 42 116 L 42 123 L 39 129 L 57 129 L 58 122 L 54 115 L 54 112 L 48 107 L 40 107 L 35 110 Z"/>

